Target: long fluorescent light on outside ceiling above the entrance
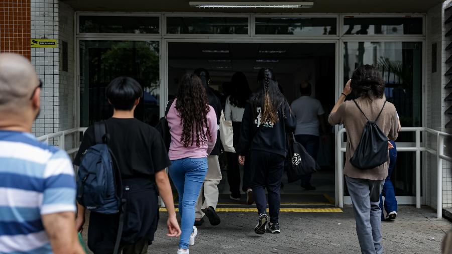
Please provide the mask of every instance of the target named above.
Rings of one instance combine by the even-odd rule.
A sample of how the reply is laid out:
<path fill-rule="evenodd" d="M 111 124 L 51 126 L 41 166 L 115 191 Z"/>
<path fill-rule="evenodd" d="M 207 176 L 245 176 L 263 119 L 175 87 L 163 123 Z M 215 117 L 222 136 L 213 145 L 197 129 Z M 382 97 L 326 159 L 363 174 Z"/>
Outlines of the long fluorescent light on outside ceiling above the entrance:
<path fill-rule="evenodd" d="M 196 8 L 312 8 L 314 2 L 190 2 Z"/>

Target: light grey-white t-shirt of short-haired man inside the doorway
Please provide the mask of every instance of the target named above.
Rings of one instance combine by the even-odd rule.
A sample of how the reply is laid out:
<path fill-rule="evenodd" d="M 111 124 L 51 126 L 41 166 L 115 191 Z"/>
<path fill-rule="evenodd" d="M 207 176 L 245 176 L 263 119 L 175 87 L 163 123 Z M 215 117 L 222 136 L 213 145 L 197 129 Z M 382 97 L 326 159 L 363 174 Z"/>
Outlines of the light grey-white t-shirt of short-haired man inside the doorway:
<path fill-rule="evenodd" d="M 292 112 L 297 117 L 295 135 L 320 136 L 318 116 L 325 113 L 318 99 L 301 96 L 291 105 Z"/>

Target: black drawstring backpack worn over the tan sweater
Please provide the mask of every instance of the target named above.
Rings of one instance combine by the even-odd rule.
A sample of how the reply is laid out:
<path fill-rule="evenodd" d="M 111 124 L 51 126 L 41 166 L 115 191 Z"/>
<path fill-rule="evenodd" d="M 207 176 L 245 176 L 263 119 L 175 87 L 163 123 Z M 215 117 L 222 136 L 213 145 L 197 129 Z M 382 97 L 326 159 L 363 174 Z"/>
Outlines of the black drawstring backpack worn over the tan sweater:
<path fill-rule="evenodd" d="M 386 105 L 386 100 L 375 121 L 369 120 L 360 106 L 358 106 L 358 103 L 355 100 L 353 102 L 366 117 L 367 123 L 364 126 L 360 144 L 358 144 L 355 153 L 350 159 L 350 163 L 359 169 L 373 169 L 388 161 L 388 137 L 377 125 L 378 118 Z"/>

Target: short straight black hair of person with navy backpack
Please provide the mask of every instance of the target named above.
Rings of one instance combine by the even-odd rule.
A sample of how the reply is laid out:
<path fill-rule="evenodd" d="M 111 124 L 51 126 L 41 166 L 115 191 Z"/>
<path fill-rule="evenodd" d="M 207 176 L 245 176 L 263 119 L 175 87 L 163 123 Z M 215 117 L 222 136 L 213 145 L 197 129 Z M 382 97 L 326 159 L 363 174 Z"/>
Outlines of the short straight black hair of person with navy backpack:
<path fill-rule="evenodd" d="M 135 101 L 143 96 L 143 88 L 133 78 L 118 77 L 108 84 L 105 95 L 115 109 L 132 110 Z"/>

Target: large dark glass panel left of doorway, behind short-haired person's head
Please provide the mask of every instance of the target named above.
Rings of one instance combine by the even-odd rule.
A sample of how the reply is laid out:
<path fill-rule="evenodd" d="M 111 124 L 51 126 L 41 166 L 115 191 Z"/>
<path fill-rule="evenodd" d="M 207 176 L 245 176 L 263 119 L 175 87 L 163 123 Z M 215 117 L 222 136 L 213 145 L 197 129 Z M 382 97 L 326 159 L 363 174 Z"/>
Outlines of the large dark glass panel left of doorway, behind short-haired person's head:
<path fill-rule="evenodd" d="M 144 96 L 135 110 L 135 117 L 153 126 L 157 123 L 159 42 L 80 41 L 80 126 L 112 115 L 105 88 L 119 76 L 132 77 L 143 86 Z"/>

